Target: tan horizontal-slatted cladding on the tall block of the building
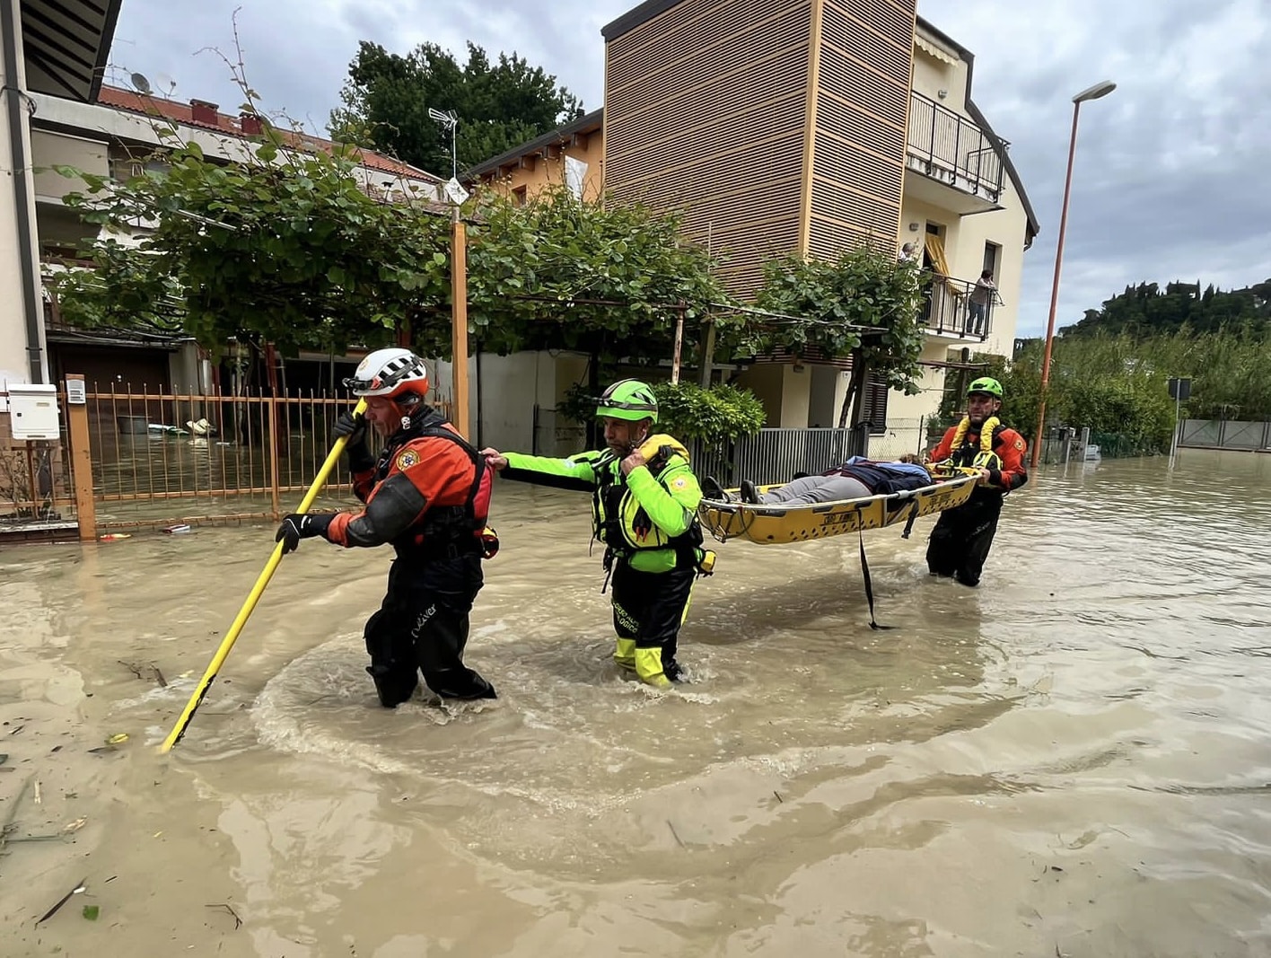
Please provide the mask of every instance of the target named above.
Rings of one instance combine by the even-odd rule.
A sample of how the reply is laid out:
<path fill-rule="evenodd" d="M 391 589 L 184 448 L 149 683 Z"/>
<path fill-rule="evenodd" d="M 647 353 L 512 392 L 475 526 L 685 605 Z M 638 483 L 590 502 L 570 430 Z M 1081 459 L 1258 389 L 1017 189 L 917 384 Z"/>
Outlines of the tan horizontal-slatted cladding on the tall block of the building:
<path fill-rule="evenodd" d="M 914 0 L 648 0 L 605 30 L 605 188 L 685 211 L 737 295 L 900 224 Z"/>

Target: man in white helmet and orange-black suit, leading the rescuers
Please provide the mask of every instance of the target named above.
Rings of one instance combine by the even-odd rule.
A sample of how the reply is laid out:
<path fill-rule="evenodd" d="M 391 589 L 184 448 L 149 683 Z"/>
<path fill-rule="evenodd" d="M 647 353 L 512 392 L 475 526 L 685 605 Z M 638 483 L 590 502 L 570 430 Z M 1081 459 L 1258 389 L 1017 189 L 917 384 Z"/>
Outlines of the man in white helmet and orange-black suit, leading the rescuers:
<path fill-rule="evenodd" d="M 275 541 L 283 554 L 301 539 L 343 546 L 393 545 L 384 602 L 366 623 L 366 651 L 380 704 L 393 709 L 425 684 L 442 699 L 493 699 L 494 686 L 464 665 L 468 612 L 483 584 L 480 562 L 497 549 L 487 530 L 493 476 L 482 455 L 426 401 L 428 372 L 409 349 L 377 349 L 344 385 L 366 398 L 366 414 L 343 413 L 344 452 L 357 513 L 287 516 Z M 385 438 L 376 460 L 370 423 Z"/>

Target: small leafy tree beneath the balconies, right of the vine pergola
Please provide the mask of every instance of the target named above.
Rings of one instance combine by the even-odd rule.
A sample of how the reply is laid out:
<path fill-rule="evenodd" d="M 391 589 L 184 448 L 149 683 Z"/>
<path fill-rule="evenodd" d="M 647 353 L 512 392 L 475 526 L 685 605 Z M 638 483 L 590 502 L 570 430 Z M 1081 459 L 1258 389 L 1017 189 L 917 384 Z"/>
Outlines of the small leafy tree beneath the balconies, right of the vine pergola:
<path fill-rule="evenodd" d="M 896 262 L 890 249 L 858 246 L 835 260 L 774 260 L 765 268 L 758 305 L 812 321 L 765 330 L 752 344 L 756 352 L 783 346 L 801 354 L 816 347 L 826 356 L 850 356 L 845 419 L 849 404 L 855 401 L 858 412 L 862 407 L 867 370 L 873 381 L 890 389 L 918 393 L 918 361 L 925 341 L 919 319 L 921 295 L 916 264 Z"/>

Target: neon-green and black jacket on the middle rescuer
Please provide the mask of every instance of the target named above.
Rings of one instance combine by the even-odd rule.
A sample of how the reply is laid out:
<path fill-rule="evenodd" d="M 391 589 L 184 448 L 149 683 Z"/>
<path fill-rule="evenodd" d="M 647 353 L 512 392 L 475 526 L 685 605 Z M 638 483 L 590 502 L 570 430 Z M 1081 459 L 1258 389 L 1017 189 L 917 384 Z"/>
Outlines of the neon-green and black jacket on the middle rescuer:
<path fill-rule="evenodd" d="M 592 532 L 638 572 L 694 568 L 700 558 L 702 487 L 689 460 L 672 452 L 657 475 L 637 466 L 623 475 L 613 450 L 568 459 L 507 452 L 505 479 L 591 493 Z"/>

